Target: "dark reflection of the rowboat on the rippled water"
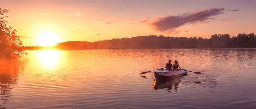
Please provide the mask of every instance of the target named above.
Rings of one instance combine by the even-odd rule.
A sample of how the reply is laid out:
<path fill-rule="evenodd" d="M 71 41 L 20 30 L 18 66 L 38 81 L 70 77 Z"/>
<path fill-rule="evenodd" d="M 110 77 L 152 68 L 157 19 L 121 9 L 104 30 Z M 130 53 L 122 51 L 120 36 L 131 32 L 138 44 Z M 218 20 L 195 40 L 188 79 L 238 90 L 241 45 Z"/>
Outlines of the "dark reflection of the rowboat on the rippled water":
<path fill-rule="evenodd" d="M 183 76 L 186 76 L 187 74 L 177 76 L 175 78 L 155 78 L 154 77 L 154 83 L 152 85 L 152 88 L 155 89 L 165 89 L 168 90 L 168 92 L 171 92 L 171 90 L 178 89 L 179 83 L 181 82 L 181 79 Z"/>

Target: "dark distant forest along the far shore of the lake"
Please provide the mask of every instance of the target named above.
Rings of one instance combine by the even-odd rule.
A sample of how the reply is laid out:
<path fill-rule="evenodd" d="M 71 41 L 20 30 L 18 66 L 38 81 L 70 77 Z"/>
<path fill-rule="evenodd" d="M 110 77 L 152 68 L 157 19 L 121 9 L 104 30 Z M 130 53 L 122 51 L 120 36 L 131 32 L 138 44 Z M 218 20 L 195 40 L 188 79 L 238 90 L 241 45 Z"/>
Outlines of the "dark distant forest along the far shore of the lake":
<path fill-rule="evenodd" d="M 256 35 L 214 34 L 211 38 L 165 37 L 148 35 L 132 38 L 110 39 L 96 42 L 68 41 L 58 43 L 57 49 L 183 49 L 183 48 L 256 48 Z"/>

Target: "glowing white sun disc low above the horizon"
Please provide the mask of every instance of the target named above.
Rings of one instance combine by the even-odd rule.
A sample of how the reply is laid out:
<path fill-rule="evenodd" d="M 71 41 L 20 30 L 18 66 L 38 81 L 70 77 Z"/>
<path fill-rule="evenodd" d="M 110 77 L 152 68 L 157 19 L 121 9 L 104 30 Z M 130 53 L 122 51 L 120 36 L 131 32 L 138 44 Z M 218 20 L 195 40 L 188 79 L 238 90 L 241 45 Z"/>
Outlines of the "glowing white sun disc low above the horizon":
<path fill-rule="evenodd" d="M 37 35 L 35 41 L 39 46 L 56 46 L 61 39 L 56 32 L 42 31 Z"/>

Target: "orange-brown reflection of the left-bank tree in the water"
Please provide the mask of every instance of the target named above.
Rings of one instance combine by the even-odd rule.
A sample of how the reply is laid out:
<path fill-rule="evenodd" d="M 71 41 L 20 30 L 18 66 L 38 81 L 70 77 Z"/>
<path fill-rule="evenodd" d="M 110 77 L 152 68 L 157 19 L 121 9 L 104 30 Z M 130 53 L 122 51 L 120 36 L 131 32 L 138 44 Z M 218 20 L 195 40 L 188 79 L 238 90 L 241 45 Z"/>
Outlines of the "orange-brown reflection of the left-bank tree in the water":
<path fill-rule="evenodd" d="M 10 104 L 10 97 L 14 94 L 11 90 L 15 87 L 20 73 L 24 70 L 22 60 L 0 60 L 0 108 Z"/>

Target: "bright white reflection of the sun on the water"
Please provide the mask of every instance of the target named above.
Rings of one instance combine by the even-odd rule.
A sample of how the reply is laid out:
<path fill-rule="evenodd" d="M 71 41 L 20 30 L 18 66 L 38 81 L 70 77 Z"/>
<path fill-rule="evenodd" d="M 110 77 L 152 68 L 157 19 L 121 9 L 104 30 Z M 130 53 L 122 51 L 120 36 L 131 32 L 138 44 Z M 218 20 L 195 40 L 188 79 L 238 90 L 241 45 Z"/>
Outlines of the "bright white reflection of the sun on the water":
<path fill-rule="evenodd" d="M 58 50 L 39 50 L 36 54 L 43 66 L 48 69 L 55 67 L 60 59 L 60 52 Z"/>

